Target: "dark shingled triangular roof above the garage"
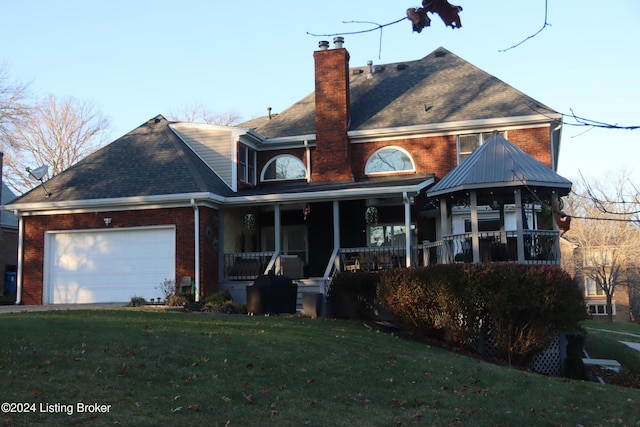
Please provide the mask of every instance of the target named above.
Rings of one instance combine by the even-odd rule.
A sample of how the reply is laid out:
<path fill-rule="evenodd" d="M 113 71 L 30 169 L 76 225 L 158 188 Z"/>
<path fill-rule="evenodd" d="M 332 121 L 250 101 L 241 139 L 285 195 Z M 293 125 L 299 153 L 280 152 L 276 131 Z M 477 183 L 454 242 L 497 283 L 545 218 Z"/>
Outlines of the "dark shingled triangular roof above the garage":
<path fill-rule="evenodd" d="M 171 194 L 230 193 L 158 115 L 13 203 L 69 202 Z"/>

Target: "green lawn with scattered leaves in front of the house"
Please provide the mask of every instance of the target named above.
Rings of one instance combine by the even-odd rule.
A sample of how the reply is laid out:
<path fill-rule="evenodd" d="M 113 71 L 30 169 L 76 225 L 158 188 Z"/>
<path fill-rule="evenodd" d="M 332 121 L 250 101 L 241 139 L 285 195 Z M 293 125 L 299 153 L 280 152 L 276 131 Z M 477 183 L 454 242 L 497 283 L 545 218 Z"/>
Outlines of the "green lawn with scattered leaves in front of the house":
<path fill-rule="evenodd" d="M 640 390 L 355 321 L 113 309 L 3 314 L 0 331 L 0 401 L 35 409 L 2 414 L 5 425 L 640 425 Z"/>

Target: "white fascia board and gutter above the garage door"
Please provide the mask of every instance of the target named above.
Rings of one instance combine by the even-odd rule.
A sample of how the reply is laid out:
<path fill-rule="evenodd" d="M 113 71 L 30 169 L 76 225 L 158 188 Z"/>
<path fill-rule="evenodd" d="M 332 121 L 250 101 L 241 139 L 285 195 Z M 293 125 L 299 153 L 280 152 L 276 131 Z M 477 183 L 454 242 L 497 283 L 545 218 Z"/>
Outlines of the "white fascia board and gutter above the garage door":
<path fill-rule="evenodd" d="M 111 199 L 90 199 L 64 202 L 38 202 L 8 204 L 3 209 L 13 211 L 17 216 L 53 215 L 63 213 L 84 213 L 104 211 L 127 211 L 142 209 L 162 209 L 191 206 L 191 200 L 199 206 L 219 207 L 224 198 L 212 193 L 185 193 L 140 197 L 118 197 Z"/>

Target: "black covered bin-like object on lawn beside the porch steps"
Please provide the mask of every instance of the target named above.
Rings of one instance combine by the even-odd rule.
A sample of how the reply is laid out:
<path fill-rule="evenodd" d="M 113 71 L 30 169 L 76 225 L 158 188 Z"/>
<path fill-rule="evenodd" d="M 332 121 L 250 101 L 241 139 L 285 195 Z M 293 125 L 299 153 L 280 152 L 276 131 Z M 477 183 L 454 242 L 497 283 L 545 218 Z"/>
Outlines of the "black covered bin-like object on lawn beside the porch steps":
<path fill-rule="evenodd" d="M 251 314 L 295 313 L 298 284 L 290 277 L 258 276 L 247 286 L 247 311 Z"/>

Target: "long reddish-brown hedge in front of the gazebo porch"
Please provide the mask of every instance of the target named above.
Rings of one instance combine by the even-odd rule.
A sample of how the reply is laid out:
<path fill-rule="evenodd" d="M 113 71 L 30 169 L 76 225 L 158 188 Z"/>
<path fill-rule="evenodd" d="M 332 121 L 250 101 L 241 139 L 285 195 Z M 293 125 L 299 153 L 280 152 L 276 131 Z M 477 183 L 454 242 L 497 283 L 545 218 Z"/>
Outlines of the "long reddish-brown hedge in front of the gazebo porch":
<path fill-rule="evenodd" d="M 520 366 L 586 315 L 577 283 L 555 266 L 451 264 L 379 275 L 376 300 L 396 323 L 465 345 L 489 331 L 498 354 Z"/>

